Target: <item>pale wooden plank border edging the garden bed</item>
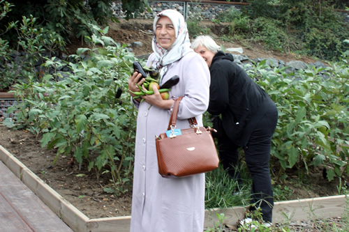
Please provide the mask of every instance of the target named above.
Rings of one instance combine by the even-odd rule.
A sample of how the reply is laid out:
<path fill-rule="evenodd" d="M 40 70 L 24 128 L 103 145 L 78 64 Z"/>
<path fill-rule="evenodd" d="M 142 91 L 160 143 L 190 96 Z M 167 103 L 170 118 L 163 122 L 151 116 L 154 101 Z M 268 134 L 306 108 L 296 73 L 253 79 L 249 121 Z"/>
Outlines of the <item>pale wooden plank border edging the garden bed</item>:
<path fill-rule="evenodd" d="M 24 166 L 16 157 L 0 146 L 0 160 L 29 189 L 36 194 L 54 213 L 56 213 L 73 231 L 76 232 L 107 232 L 129 231 L 131 216 L 103 217 L 90 219 L 61 195 L 52 190 L 43 180 Z M 274 206 L 273 222 L 283 222 L 284 217 L 292 220 L 302 220 L 309 216 L 309 212 L 317 215 L 318 219 L 341 217 L 346 206 L 346 195 L 326 196 L 313 199 L 299 199 L 293 201 L 276 202 Z M 244 218 L 244 207 L 214 208 L 205 212 L 205 228 L 213 228 L 217 221 L 216 213 L 224 213 L 223 224 L 235 226 L 239 219 Z"/>

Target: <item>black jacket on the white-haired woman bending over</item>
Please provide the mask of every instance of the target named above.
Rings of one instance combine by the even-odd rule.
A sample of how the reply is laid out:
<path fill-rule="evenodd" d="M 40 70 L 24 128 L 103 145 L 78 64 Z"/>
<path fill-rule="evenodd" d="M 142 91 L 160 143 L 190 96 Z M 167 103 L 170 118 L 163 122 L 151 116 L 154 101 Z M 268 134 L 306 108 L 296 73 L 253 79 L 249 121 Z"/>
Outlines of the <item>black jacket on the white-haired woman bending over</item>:
<path fill-rule="evenodd" d="M 238 146 L 246 146 L 256 123 L 275 105 L 233 61 L 232 54 L 221 51 L 212 59 L 208 111 L 212 115 L 221 114 L 223 130 L 228 137 Z"/>

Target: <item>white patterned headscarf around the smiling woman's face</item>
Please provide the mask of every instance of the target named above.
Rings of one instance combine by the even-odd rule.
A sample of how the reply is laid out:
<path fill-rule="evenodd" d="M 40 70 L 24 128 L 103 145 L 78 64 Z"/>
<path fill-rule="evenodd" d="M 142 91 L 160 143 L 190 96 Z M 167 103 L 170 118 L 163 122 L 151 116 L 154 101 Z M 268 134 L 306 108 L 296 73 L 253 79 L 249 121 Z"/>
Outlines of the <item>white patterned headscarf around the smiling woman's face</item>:
<path fill-rule="evenodd" d="M 168 49 L 161 47 L 158 44 L 158 41 L 156 41 L 155 37 L 156 23 L 161 16 L 167 16 L 170 18 L 176 35 L 176 40 L 174 40 L 174 43 Z M 158 13 L 154 18 L 153 30 L 154 38 L 152 47 L 154 53 L 156 54 L 155 65 L 157 68 L 161 68 L 160 79 L 162 79 L 163 75 L 165 75 L 165 72 L 167 71 L 166 65 L 169 65 L 174 61 L 178 61 L 188 52 L 193 52 L 193 49 L 191 49 L 191 41 L 189 40 L 188 29 L 186 28 L 184 17 L 177 10 L 168 9 Z"/>

